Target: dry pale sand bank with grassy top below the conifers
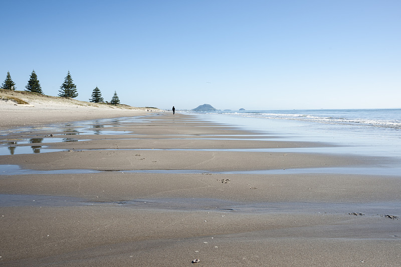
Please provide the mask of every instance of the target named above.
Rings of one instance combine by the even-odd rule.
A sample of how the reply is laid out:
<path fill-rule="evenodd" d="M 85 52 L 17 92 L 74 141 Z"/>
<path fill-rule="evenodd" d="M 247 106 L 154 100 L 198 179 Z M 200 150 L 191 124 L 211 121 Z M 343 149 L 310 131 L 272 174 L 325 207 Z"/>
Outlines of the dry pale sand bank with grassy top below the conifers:
<path fill-rule="evenodd" d="M 27 104 L 17 104 L 16 100 Z M 69 121 L 139 116 L 161 112 L 155 108 L 106 105 L 71 98 L 38 95 L 30 92 L 0 89 L 0 129 L 33 127 Z"/>

